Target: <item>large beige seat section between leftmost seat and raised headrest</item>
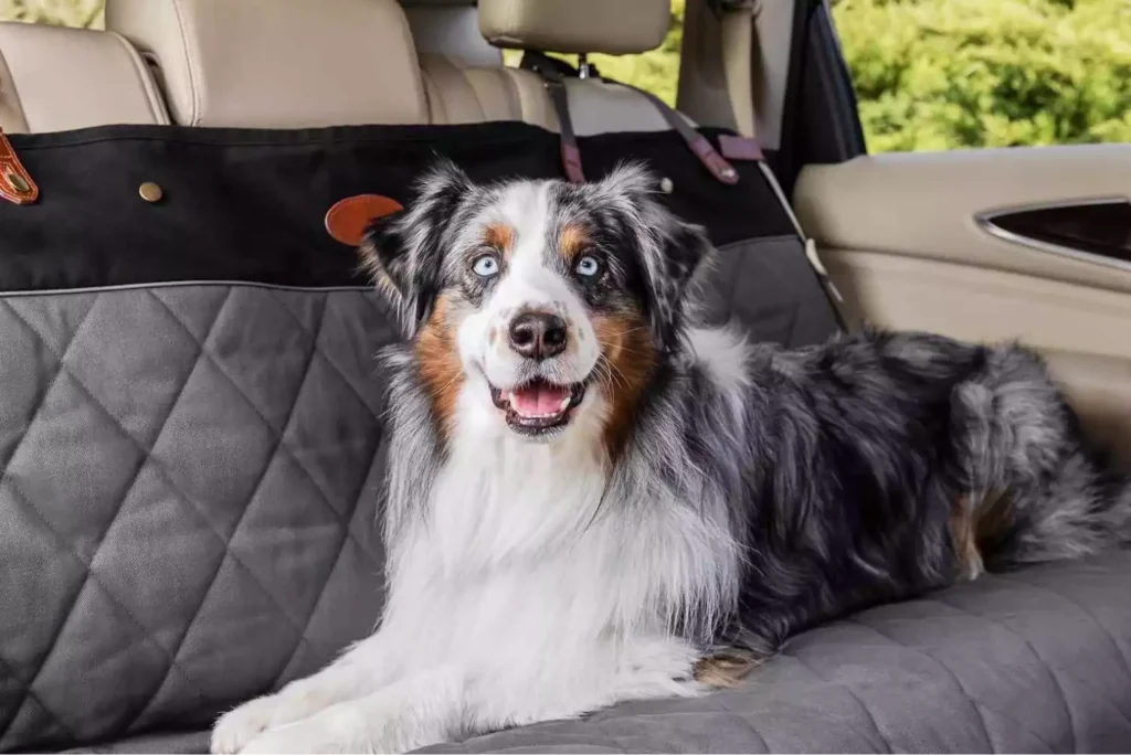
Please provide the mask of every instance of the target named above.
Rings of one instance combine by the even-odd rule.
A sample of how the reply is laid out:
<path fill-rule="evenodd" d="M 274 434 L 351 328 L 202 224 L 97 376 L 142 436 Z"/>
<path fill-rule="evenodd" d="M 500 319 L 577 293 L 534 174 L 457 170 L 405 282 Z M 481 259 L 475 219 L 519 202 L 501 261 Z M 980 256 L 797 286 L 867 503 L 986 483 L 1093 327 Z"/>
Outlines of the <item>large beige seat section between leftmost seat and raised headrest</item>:
<path fill-rule="evenodd" d="M 178 123 L 428 120 L 408 21 L 395 0 L 109 0 L 106 27 L 153 53 Z"/>

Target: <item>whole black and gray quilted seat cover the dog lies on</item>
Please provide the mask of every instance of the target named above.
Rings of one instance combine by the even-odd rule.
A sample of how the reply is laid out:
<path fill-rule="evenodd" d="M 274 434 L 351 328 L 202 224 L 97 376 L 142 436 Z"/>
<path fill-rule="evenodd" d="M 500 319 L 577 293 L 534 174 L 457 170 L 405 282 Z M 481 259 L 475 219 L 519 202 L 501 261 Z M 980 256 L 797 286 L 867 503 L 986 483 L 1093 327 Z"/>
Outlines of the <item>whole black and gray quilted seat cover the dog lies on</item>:
<path fill-rule="evenodd" d="M 722 249 L 711 316 L 786 345 L 835 322 L 760 171 L 675 134 L 625 156 Z M 0 753 L 202 755 L 215 715 L 373 627 L 389 312 L 322 231 L 440 151 L 558 175 L 521 124 L 12 137 L 0 202 Z M 144 205 L 143 181 L 165 199 Z M 1131 753 L 1131 553 L 988 578 L 797 637 L 741 689 L 630 703 L 437 755 Z"/>

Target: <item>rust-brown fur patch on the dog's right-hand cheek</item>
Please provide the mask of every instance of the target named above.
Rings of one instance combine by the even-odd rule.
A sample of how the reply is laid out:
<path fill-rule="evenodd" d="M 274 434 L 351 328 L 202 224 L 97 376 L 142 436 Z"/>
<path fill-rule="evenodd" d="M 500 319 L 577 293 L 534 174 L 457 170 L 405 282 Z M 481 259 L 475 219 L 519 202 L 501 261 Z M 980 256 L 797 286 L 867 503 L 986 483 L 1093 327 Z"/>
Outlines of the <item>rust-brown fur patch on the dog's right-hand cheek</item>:
<path fill-rule="evenodd" d="M 656 368 L 656 347 L 639 312 L 595 314 L 593 330 L 601 345 L 597 375 L 610 403 L 605 450 L 610 459 L 615 459 L 624 448 L 637 405 Z"/>

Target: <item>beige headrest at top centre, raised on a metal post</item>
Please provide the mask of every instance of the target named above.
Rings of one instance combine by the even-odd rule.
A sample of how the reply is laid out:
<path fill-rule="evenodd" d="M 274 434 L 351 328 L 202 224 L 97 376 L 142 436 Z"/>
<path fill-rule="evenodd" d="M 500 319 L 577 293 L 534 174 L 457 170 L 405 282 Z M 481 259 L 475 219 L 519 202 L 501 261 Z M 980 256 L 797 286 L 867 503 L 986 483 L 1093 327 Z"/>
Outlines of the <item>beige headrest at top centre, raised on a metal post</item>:
<path fill-rule="evenodd" d="M 670 0 L 480 0 L 480 31 L 500 47 L 614 55 L 658 47 Z"/>

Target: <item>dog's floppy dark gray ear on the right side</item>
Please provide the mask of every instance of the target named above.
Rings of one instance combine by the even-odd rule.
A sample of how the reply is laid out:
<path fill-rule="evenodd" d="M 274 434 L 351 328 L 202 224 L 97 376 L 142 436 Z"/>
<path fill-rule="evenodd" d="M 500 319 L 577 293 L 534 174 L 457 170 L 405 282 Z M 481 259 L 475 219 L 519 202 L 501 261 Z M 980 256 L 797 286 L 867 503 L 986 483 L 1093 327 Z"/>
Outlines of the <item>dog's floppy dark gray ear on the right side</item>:
<path fill-rule="evenodd" d="M 656 200 L 658 186 L 639 165 L 620 166 L 599 184 L 625 211 L 639 250 L 646 314 L 656 344 L 666 350 L 679 338 L 689 285 L 714 248 L 701 226 L 684 223 Z"/>

